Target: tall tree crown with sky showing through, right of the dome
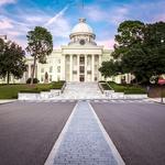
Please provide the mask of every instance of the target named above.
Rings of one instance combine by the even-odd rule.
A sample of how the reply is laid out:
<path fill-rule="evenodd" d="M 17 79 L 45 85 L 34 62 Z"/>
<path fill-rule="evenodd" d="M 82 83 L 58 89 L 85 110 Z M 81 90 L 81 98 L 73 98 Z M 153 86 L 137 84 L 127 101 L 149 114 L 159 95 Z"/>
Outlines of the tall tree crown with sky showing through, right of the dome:
<path fill-rule="evenodd" d="M 140 21 L 124 21 L 118 28 L 116 35 L 114 52 L 112 56 L 120 58 L 127 54 L 130 48 L 140 47 L 144 40 L 144 23 Z"/>

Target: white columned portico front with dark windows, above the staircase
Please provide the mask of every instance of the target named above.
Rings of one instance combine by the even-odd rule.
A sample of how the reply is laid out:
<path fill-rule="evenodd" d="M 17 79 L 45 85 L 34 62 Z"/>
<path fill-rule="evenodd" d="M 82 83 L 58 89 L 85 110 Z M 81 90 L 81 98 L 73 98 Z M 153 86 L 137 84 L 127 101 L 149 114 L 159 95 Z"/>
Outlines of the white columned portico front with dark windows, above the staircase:
<path fill-rule="evenodd" d="M 101 55 L 67 54 L 65 55 L 65 75 L 67 81 L 97 81 L 100 78 L 98 68 Z"/>

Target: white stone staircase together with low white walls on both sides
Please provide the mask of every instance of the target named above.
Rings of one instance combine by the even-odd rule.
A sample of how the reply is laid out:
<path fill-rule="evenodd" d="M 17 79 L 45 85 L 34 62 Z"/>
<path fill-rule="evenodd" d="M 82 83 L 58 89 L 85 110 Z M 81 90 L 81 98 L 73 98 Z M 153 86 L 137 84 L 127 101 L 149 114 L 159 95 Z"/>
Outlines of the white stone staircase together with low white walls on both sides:
<path fill-rule="evenodd" d="M 67 82 L 64 92 L 61 90 L 42 91 L 41 94 L 19 94 L 19 100 L 87 100 L 87 99 L 146 99 L 147 95 L 124 95 L 105 90 L 102 94 L 97 82 Z"/>

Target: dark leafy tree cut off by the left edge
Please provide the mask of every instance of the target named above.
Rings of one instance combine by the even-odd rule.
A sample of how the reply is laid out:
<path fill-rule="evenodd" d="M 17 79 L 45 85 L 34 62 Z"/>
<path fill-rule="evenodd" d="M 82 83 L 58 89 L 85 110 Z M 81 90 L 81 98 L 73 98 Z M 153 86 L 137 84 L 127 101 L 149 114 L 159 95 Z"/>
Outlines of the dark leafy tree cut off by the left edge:
<path fill-rule="evenodd" d="M 25 53 L 22 47 L 14 42 L 4 43 L 0 40 L 0 76 L 7 77 L 9 84 L 11 75 L 19 79 L 25 70 Z"/>

